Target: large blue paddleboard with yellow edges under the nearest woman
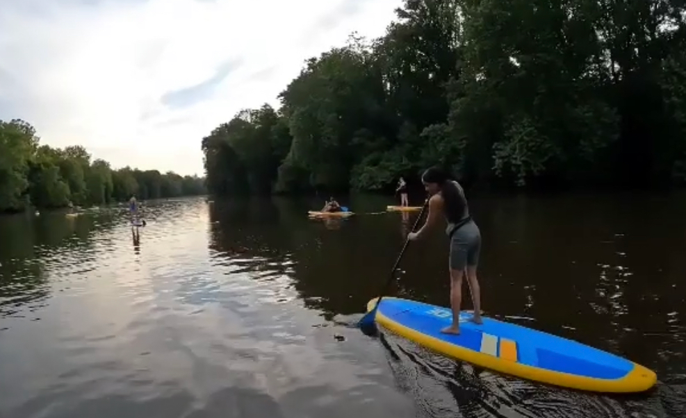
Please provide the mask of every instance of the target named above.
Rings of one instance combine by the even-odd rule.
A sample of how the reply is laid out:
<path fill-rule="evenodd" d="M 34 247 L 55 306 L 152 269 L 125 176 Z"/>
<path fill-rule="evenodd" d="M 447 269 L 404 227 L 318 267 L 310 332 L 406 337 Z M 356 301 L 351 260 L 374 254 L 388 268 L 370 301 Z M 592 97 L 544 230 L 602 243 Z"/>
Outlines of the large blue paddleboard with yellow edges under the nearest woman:
<path fill-rule="evenodd" d="M 369 301 L 367 310 L 376 304 Z M 448 308 L 384 297 L 376 321 L 384 328 L 443 355 L 520 378 L 591 392 L 643 392 L 655 385 L 652 370 L 614 354 L 531 328 L 460 315 L 460 335 L 441 333 Z"/>

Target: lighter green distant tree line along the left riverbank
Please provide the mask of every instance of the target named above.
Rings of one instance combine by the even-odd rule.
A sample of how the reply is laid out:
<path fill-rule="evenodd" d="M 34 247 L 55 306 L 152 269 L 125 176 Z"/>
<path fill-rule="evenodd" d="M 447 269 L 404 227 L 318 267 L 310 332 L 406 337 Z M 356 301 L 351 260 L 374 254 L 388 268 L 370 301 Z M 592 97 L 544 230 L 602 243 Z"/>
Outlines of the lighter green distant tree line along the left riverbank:
<path fill-rule="evenodd" d="M 0 120 L 0 212 L 29 206 L 60 208 L 101 205 L 138 199 L 203 194 L 204 179 L 174 172 L 112 169 L 105 160 L 91 160 L 81 146 L 40 145 L 35 128 L 20 119 Z"/>

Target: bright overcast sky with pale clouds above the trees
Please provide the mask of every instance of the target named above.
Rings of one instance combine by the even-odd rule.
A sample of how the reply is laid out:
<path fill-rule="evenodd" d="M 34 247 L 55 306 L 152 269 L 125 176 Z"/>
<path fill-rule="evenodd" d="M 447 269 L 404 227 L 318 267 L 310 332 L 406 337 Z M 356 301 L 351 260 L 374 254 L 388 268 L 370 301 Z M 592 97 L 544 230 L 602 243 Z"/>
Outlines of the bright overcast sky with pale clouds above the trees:
<path fill-rule="evenodd" d="M 200 142 L 401 0 L 0 0 L 0 119 L 114 168 L 203 174 Z"/>

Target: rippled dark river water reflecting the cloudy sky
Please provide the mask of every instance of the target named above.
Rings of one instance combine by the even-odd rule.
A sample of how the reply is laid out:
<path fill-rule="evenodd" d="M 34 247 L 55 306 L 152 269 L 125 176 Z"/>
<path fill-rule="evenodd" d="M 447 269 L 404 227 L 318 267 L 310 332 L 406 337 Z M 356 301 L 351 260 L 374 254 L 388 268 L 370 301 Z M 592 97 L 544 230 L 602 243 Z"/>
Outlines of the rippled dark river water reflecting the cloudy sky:
<path fill-rule="evenodd" d="M 599 396 L 448 360 L 354 328 L 416 215 L 382 197 L 150 202 L 0 217 L 0 417 L 686 416 L 686 198 L 481 196 L 487 315 L 658 373 Z M 446 306 L 442 231 L 412 243 L 394 293 Z M 468 296 L 465 294 L 469 308 Z"/>

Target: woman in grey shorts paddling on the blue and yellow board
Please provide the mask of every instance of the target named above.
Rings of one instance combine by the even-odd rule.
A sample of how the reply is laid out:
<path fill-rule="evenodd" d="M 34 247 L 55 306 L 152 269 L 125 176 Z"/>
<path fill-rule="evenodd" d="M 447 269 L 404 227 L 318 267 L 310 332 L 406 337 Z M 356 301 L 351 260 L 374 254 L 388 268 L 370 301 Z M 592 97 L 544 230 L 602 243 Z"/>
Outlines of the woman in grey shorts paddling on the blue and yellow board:
<path fill-rule="evenodd" d="M 459 308 L 462 302 L 462 276 L 466 271 L 474 303 L 471 321 L 481 324 L 481 291 L 476 277 L 476 267 L 481 250 L 479 227 L 469 215 L 464 190 L 457 181 L 452 181 L 443 170 L 431 167 L 424 172 L 422 183 L 431 195 L 429 215 L 424 226 L 416 233 L 409 233 L 408 240 L 416 240 L 439 220 L 441 213 L 448 221 L 446 233 L 450 237 L 450 307 L 452 324 L 441 332 L 459 334 Z"/>

